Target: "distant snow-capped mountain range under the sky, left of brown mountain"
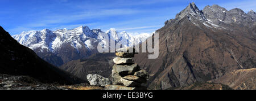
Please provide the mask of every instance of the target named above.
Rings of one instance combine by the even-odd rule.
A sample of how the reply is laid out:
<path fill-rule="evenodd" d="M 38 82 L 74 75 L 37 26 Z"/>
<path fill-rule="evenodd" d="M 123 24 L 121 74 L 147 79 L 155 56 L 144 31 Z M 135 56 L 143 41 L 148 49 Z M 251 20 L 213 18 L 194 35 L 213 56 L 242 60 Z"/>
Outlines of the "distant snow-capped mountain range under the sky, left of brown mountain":
<path fill-rule="evenodd" d="M 101 38 L 98 39 L 102 34 L 108 34 L 110 39 L 113 39 L 116 43 L 122 43 L 123 46 L 137 45 L 151 36 L 147 33 L 132 36 L 125 31 L 118 32 L 114 28 L 102 32 L 101 29 L 90 30 L 89 27 L 81 26 L 74 29 L 57 29 L 54 31 L 49 29 L 31 30 L 14 35 L 13 38 L 20 44 L 34 50 L 47 62 L 53 62 L 52 64 L 59 66 L 70 60 L 86 58 L 97 53 L 98 43 L 105 42 Z"/>

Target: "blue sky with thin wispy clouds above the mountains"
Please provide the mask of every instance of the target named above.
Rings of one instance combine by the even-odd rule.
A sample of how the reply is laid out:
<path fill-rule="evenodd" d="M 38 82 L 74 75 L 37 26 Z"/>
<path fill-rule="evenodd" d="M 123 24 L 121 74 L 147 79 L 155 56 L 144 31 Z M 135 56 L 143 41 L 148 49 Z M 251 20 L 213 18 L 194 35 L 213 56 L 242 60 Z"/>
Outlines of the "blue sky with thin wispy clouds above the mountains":
<path fill-rule="evenodd" d="M 87 25 L 129 33 L 151 33 L 173 19 L 189 2 L 202 10 L 217 4 L 227 10 L 256 10 L 255 0 L 1 0 L 0 25 L 11 35 L 23 30 L 73 29 Z"/>

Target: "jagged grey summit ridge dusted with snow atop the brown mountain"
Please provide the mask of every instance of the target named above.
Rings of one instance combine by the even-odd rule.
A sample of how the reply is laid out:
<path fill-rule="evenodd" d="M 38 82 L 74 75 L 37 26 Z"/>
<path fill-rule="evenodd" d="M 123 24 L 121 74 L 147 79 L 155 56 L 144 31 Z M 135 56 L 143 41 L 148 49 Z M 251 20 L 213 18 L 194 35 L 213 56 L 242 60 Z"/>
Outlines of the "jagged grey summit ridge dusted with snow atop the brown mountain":
<path fill-rule="evenodd" d="M 203 24 L 208 28 L 229 29 L 227 24 L 231 23 L 247 27 L 251 27 L 251 24 L 256 25 L 256 14 L 254 11 L 250 11 L 247 14 L 240 8 L 233 8 L 228 11 L 218 5 L 208 5 L 203 10 L 199 10 L 195 3 L 189 3 L 184 10 L 176 15 L 175 19 L 167 20 L 164 24 L 175 23 L 184 17 L 187 17 L 197 27 L 201 27 L 201 24 Z"/>

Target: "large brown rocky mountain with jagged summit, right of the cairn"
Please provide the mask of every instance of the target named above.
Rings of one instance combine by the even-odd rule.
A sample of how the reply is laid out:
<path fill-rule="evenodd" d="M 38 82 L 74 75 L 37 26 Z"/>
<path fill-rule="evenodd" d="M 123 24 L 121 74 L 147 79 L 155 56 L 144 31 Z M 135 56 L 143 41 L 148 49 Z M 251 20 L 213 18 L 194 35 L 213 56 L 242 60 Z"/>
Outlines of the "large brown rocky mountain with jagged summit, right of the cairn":
<path fill-rule="evenodd" d="M 228 11 L 213 5 L 199 10 L 190 3 L 156 33 L 158 59 L 148 59 L 148 53 L 135 55 L 135 63 L 150 73 L 151 89 L 189 86 L 256 68 L 255 17 L 239 8 Z"/>

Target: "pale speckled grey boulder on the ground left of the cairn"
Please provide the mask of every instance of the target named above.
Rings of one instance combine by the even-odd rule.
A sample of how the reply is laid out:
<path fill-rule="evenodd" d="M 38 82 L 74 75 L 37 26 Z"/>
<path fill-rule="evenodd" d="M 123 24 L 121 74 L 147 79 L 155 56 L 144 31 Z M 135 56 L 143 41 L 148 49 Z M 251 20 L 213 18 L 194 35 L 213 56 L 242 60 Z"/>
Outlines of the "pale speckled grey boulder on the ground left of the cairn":
<path fill-rule="evenodd" d="M 86 78 L 90 82 L 90 85 L 106 86 L 112 84 L 109 78 L 105 78 L 98 74 L 88 74 Z"/>

